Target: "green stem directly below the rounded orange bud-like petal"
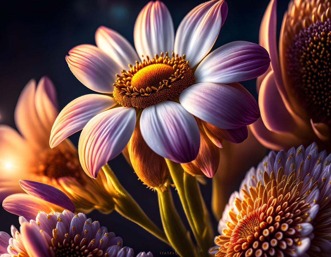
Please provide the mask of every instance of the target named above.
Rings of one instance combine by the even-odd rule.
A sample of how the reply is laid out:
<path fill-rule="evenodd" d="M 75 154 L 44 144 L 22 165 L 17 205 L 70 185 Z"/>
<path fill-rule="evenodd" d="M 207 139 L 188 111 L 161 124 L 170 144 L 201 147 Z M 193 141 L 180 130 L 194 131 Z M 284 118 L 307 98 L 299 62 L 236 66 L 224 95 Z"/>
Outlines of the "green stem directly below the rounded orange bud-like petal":
<path fill-rule="evenodd" d="M 170 189 L 157 192 L 163 228 L 172 247 L 181 257 L 197 256 L 190 234 L 186 231 L 175 209 Z"/>

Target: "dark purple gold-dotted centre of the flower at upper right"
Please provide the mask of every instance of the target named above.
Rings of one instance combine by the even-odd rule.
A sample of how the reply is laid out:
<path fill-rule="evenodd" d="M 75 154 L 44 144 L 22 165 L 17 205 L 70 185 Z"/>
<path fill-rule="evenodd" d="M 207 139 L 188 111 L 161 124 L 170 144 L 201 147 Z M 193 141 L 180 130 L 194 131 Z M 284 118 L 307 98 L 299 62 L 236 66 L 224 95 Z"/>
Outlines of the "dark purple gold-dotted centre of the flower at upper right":
<path fill-rule="evenodd" d="M 314 122 L 331 124 L 331 21 L 317 21 L 295 35 L 287 49 L 294 93 Z"/>

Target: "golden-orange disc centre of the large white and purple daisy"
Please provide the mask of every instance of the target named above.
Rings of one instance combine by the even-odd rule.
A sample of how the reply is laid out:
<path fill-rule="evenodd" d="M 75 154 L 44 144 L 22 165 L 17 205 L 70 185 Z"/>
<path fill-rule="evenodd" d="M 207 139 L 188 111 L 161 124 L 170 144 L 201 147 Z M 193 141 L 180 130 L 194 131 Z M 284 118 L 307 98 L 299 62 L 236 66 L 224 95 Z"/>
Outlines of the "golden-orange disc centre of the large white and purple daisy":
<path fill-rule="evenodd" d="M 114 99 L 125 107 L 145 108 L 151 104 L 171 100 L 192 85 L 194 75 L 185 55 L 172 53 L 146 56 L 141 63 L 122 70 L 114 83 Z"/>

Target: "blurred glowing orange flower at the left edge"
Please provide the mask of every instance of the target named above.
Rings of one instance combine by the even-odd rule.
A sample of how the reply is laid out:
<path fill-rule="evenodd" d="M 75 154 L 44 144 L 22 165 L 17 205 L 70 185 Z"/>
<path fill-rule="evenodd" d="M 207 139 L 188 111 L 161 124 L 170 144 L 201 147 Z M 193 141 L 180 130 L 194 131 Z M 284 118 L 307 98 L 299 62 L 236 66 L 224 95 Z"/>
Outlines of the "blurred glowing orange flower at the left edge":
<path fill-rule="evenodd" d="M 48 138 L 56 116 L 58 100 L 52 81 L 44 76 L 38 85 L 30 80 L 20 94 L 15 109 L 19 130 L 0 125 L 0 199 L 21 193 L 19 179 L 43 182 L 66 192 L 77 210 L 94 208 L 111 212 L 112 202 L 105 200 L 107 180 L 103 172 L 98 180 L 83 172 L 69 139 L 50 149 Z"/>

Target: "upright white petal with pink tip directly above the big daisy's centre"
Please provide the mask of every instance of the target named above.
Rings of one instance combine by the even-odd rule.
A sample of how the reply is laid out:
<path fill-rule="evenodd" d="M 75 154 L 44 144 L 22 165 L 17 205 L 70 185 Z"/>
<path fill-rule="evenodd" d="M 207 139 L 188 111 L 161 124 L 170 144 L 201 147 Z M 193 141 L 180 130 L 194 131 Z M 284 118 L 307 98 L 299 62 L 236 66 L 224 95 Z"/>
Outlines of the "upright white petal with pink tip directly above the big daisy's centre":
<path fill-rule="evenodd" d="M 166 5 L 157 0 L 150 1 L 140 11 L 133 31 L 134 45 L 141 57 L 153 58 L 161 52 L 173 51 L 174 28 Z M 144 59 L 144 58 L 141 58 Z M 134 65 L 134 63 L 132 63 Z"/>

